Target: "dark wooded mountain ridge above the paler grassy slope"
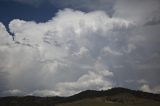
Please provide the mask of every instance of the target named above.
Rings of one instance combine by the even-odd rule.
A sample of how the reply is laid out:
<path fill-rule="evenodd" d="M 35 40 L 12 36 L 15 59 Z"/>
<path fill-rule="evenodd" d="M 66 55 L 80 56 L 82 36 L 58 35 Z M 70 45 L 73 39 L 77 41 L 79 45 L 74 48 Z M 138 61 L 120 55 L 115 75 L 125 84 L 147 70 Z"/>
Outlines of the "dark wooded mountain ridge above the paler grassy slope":
<path fill-rule="evenodd" d="M 160 94 L 147 93 L 116 87 L 109 90 L 86 90 L 69 97 L 36 97 L 36 96 L 9 96 L 0 98 L 0 106 L 56 106 L 57 104 L 72 103 L 84 99 L 103 98 L 105 101 L 116 103 L 136 102 L 136 99 L 160 101 Z"/>

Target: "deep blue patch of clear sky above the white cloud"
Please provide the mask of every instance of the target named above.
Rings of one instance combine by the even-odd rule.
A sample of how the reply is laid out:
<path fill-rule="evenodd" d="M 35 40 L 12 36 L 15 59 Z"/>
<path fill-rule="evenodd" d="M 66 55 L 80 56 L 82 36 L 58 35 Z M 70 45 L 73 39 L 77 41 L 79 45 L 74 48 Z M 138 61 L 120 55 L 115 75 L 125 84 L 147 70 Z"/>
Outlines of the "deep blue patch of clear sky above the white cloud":
<path fill-rule="evenodd" d="M 49 3 L 34 6 L 15 1 L 0 1 L 0 20 L 5 25 L 8 25 L 12 19 L 45 22 L 51 19 L 57 11 L 58 8 Z"/>

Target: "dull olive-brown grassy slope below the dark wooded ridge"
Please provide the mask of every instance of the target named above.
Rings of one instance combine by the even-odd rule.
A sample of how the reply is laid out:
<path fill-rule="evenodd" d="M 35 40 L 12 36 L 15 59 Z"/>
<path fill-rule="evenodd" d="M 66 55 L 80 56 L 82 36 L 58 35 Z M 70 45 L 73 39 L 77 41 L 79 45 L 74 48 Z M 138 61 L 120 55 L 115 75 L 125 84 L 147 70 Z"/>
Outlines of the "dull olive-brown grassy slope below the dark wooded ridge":
<path fill-rule="evenodd" d="M 137 98 L 134 102 L 129 101 L 120 103 L 106 101 L 105 98 L 94 98 L 78 100 L 70 103 L 57 104 L 56 106 L 160 106 L 160 102 Z"/>

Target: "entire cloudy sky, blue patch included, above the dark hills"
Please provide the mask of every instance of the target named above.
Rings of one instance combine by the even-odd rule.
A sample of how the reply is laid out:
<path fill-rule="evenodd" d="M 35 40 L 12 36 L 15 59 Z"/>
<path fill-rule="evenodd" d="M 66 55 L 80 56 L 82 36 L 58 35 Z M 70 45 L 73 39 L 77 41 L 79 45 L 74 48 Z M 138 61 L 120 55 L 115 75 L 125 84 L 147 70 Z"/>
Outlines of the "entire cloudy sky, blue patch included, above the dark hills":
<path fill-rule="evenodd" d="M 160 93 L 159 29 L 159 0 L 0 0 L 0 96 Z"/>

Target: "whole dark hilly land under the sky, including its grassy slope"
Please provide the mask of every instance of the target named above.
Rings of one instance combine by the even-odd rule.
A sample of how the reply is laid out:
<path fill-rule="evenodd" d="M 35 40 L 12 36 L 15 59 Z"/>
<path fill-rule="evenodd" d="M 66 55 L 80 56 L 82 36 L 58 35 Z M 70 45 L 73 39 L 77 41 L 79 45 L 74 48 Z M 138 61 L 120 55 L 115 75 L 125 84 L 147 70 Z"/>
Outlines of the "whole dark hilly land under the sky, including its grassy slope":
<path fill-rule="evenodd" d="M 112 88 L 87 90 L 70 97 L 2 97 L 0 106 L 160 106 L 160 94 Z"/>

